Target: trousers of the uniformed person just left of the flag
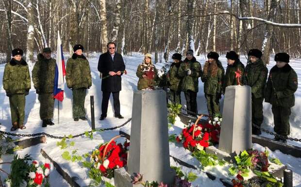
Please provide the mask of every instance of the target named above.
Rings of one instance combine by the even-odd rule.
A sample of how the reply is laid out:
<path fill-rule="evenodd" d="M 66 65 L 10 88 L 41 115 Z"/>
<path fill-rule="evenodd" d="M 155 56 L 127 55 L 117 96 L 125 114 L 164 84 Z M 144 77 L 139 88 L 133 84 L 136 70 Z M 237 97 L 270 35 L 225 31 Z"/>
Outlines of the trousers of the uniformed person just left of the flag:
<path fill-rule="evenodd" d="M 40 118 L 47 120 L 53 118 L 54 98 L 52 93 L 40 93 Z"/>

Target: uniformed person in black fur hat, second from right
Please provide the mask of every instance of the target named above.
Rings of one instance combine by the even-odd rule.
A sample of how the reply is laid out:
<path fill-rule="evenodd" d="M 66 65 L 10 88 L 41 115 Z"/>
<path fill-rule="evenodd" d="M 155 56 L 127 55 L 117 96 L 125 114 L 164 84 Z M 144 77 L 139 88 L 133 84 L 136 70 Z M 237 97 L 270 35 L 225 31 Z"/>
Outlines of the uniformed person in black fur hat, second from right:
<path fill-rule="evenodd" d="M 249 61 L 245 69 L 244 85 L 251 87 L 252 93 L 252 123 L 261 126 L 263 116 L 263 99 L 268 78 L 268 68 L 261 60 L 262 52 L 259 49 L 251 49 L 248 53 Z M 252 134 L 260 135 L 259 128 L 252 126 Z"/>

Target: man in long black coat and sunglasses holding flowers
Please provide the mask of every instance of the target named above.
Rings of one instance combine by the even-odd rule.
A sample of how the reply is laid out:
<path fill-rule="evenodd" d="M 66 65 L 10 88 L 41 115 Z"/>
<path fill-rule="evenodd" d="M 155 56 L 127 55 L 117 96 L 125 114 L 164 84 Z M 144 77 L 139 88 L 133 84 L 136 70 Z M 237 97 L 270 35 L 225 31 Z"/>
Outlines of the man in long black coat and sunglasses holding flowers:
<path fill-rule="evenodd" d="M 121 91 L 121 76 L 125 70 L 125 65 L 121 54 L 115 52 L 116 45 L 109 42 L 108 51 L 100 55 L 98 61 L 98 71 L 102 74 L 101 91 L 101 116 L 100 120 L 107 117 L 110 94 L 113 94 L 115 117 L 123 119 L 120 115 L 119 92 Z"/>

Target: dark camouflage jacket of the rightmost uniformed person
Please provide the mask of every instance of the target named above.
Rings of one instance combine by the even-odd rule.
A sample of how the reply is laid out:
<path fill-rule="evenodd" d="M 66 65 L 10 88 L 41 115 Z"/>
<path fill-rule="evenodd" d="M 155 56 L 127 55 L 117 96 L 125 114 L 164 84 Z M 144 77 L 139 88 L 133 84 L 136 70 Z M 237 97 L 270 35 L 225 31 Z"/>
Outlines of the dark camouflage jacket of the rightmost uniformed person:
<path fill-rule="evenodd" d="M 295 105 L 294 93 L 298 89 L 298 77 L 294 69 L 286 64 L 283 68 L 276 65 L 269 71 L 265 102 L 275 106 L 291 108 Z"/>

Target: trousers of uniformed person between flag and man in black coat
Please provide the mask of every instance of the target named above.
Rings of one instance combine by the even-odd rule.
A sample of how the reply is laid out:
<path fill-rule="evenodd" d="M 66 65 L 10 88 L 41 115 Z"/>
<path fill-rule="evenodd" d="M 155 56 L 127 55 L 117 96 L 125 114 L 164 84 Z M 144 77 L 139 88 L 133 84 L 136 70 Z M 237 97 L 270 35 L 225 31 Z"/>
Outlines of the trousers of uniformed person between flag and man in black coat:
<path fill-rule="evenodd" d="M 87 89 L 73 89 L 73 118 L 83 117 L 86 115 L 84 110 L 84 99 L 86 96 Z"/>

